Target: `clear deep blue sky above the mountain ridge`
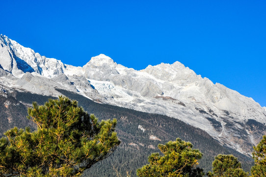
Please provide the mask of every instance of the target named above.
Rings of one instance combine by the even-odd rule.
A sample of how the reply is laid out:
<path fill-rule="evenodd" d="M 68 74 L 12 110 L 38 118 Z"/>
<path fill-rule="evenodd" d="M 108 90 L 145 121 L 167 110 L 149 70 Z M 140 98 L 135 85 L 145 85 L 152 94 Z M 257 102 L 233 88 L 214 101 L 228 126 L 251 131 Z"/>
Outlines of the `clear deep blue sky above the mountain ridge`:
<path fill-rule="evenodd" d="M 180 61 L 266 106 L 265 0 L 1 0 L 0 33 L 63 63 Z"/>

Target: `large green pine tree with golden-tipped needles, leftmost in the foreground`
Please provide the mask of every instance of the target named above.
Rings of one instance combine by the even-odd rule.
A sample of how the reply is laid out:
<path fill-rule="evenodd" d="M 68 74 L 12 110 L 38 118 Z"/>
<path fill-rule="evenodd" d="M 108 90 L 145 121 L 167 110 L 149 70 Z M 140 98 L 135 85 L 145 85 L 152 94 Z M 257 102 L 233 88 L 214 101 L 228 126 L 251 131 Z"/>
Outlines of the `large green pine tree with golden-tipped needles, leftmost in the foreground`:
<path fill-rule="evenodd" d="M 98 122 L 67 97 L 33 103 L 28 118 L 36 131 L 15 127 L 0 139 L 0 177 L 80 177 L 120 143 L 116 119 Z"/>

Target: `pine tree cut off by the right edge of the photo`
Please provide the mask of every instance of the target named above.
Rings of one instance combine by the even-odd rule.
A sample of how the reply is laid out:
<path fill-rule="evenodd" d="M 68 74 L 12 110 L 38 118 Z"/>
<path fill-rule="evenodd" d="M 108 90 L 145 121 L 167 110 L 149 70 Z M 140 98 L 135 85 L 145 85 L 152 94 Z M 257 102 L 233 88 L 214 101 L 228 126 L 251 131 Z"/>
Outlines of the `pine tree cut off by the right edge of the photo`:
<path fill-rule="evenodd" d="M 266 136 L 253 147 L 252 153 L 255 165 L 251 168 L 251 177 L 266 177 Z"/>

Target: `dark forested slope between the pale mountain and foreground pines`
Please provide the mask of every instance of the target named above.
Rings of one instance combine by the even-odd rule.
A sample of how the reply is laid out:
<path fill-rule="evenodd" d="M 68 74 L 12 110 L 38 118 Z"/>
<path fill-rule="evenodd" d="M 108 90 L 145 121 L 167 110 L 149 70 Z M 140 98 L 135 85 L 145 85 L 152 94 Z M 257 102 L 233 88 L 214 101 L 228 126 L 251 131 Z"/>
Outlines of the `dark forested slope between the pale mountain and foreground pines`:
<path fill-rule="evenodd" d="M 234 154 L 241 161 L 244 170 L 248 171 L 253 163 L 250 157 L 239 152 L 221 146 L 205 131 L 195 128 L 176 118 L 148 114 L 117 106 L 96 103 L 77 93 L 57 89 L 63 95 L 79 101 L 79 105 L 89 114 L 94 114 L 99 119 L 117 118 L 116 131 L 121 140 L 121 145 L 107 159 L 95 164 L 91 169 L 85 171 L 84 177 L 115 177 L 113 167 L 121 169 L 121 173 L 135 171 L 147 163 L 147 157 L 152 152 L 159 152 L 158 144 L 165 144 L 168 141 L 175 141 L 181 138 L 190 141 L 194 148 L 199 148 L 203 153 L 200 166 L 208 172 L 212 169 L 214 156 L 217 154 Z M 29 92 L 13 92 L 7 97 L 1 96 L 1 126 L 0 133 L 3 133 L 13 126 L 31 126 L 27 120 L 27 107 L 32 101 L 43 104 L 49 98 Z M 6 101 L 9 102 L 6 108 Z M 4 104 L 5 103 L 5 104 Z M 12 103 L 12 104 L 11 104 Z M 11 118 L 11 121 L 10 121 Z M 32 127 L 34 128 L 34 127 Z"/>

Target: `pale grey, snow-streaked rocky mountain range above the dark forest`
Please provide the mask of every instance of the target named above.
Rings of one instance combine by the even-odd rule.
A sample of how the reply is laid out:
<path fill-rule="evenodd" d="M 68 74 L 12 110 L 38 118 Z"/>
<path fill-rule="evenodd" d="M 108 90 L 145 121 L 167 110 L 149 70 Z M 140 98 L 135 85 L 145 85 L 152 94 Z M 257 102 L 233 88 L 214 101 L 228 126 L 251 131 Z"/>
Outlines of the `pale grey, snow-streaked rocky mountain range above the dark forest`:
<path fill-rule="evenodd" d="M 0 88 L 49 96 L 65 89 L 96 102 L 178 118 L 244 154 L 266 134 L 265 107 L 178 61 L 137 71 L 101 54 L 75 67 L 0 35 Z"/>

